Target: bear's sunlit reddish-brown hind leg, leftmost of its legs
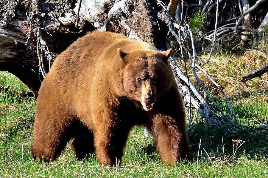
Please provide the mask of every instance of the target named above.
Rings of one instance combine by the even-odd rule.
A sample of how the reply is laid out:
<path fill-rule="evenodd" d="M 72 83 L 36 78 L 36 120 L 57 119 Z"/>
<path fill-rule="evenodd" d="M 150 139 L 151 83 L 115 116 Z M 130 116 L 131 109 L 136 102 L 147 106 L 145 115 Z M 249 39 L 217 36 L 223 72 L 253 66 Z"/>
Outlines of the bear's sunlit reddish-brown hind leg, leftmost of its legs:
<path fill-rule="evenodd" d="M 64 118 L 61 118 L 64 117 Z M 50 161 L 56 159 L 72 137 L 68 132 L 72 117 L 65 111 L 51 112 L 37 108 L 34 122 L 34 144 L 32 154 L 34 158 Z"/>

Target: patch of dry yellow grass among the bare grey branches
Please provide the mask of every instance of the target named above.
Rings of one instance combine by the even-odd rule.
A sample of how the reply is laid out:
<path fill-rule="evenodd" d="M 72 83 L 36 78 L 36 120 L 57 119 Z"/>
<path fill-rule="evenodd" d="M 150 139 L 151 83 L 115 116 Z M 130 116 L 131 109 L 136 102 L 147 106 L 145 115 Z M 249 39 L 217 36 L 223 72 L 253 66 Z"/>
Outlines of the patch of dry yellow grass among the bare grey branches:
<path fill-rule="evenodd" d="M 215 51 L 210 62 L 205 64 L 208 56 L 209 54 L 197 56 L 197 64 L 208 71 L 209 75 L 222 86 L 229 98 L 246 97 L 255 100 L 256 97 L 258 98 L 261 95 L 261 102 L 268 101 L 268 73 L 263 74 L 261 76 L 262 79 L 254 78 L 245 84 L 239 82 L 239 79 L 245 74 L 268 64 L 267 42 L 256 42 L 253 49 L 247 49 L 242 54 L 230 54 L 230 52 L 228 54 L 228 52 L 222 53 L 221 51 Z M 185 71 L 184 63 L 180 59 L 178 59 L 178 65 Z M 222 96 L 220 90 L 215 88 L 206 74 L 198 68 L 196 70 L 204 86 L 214 96 Z M 191 81 L 196 81 L 191 70 L 188 70 L 188 75 Z"/>

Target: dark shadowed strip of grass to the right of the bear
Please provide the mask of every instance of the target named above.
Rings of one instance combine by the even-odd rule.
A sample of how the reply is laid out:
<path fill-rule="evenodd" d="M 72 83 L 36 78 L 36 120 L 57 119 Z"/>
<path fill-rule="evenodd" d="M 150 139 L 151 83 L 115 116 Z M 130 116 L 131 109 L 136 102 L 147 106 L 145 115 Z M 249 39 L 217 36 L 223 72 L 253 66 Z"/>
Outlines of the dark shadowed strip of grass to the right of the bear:
<path fill-rule="evenodd" d="M 236 158 L 253 158 L 256 155 L 268 158 L 267 131 L 258 131 L 252 127 L 242 131 L 228 123 L 216 128 L 206 123 L 197 123 L 188 130 L 188 137 L 194 159 L 197 159 L 200 139 L 199 152 L 202 152 L 202 155 L 205 154 L 204 148 L 212 157 L 235 154 Z"/>

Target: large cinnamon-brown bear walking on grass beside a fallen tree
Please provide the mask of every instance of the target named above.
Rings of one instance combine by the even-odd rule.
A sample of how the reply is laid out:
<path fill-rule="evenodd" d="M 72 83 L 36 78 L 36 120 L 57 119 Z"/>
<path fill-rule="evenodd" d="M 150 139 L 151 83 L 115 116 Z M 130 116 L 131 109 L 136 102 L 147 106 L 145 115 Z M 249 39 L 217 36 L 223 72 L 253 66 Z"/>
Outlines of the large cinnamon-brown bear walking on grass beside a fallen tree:
<path fill-rule="evenodd" d="M 93 31 L 54 60 L 38 92 L 35 159 L 57 159 L 72 140 L 77 159 L 122 157 L 130 129 L 145 125 L 163 162 L 189 158 L 184 105 L 168 63 L 172 50 Z"/>

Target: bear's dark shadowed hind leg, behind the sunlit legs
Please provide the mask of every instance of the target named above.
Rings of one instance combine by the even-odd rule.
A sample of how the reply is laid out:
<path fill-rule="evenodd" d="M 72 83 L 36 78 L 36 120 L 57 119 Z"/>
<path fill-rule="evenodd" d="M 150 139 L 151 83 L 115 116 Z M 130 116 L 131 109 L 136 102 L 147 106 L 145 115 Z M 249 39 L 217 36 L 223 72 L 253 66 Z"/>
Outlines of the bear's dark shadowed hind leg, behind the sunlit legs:
<path fill-rule="evenodd" d="M 72 147 L 77 159 L 88 158 L 95 151 L 93 132 L 81 123 L 77 123 L 72 132 L 75 134 Z"/>

